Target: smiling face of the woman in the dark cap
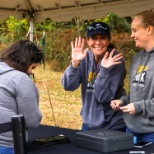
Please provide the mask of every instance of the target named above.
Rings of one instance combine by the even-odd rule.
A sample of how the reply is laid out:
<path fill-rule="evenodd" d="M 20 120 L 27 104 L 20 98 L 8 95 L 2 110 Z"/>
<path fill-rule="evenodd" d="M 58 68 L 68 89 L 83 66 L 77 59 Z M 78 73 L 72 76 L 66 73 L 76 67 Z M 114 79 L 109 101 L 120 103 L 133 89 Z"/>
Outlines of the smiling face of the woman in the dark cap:
<path fill-rule="evenodd" d="M 95 57 L 102 57 L 107 51 L 110 39 L 102 34 L 92 35 L 87 39 L 89 48 L 94 53 Z"/>

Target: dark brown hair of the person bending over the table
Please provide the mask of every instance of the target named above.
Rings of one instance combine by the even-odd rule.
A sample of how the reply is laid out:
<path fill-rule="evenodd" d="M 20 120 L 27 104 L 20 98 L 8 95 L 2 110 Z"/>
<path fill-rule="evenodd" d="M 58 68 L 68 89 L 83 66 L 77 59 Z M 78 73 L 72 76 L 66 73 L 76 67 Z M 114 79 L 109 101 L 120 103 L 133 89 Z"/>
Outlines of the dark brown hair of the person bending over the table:
<path fill-rule="evenodd" d="M 41 62 L 42 59 L 42 51 L 33 42 L 28 40 L 15 42 L 0 55 L 1 61 L 26 74 L 31 64 Z"/>

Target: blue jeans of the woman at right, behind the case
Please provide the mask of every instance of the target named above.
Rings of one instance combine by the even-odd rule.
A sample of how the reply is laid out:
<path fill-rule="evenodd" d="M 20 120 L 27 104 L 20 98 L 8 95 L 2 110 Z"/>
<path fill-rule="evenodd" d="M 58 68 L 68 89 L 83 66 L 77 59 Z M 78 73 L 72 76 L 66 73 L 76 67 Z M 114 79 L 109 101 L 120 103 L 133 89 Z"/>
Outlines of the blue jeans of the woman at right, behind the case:
<path fill-rule="evenodd" d="M 127 133 L 131 133 L 137 137 L 137 141 L 144 141 L 144 142 L 153 142 L 154 143 L 154 133 L 146 133 L 146 134 L 137 134 L 130 131 L 130 129 L 126 128 Z"/>

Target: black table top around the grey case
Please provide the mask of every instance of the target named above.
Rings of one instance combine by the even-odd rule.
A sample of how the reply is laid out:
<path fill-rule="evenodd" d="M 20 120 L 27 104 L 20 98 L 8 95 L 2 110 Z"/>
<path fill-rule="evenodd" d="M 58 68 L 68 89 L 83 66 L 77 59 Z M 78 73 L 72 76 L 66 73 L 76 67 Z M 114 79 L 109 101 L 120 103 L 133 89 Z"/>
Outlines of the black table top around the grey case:
<path fill-rule="evenodd" d="M 75 135 L 79 130 L 65 129 L 53 126 L 40 125 L 38 128 L 30 130 L 30 139 L 27 142 L 28 154 L 103 154 L 101 152 L 89 150 L 86 148 L 77 147 L 75 144 Z M 58 134 L 68 136 L 70 142 L 60 143 L 50 146 L 42 146 L 34 144 L 32 141 L 39 137 L 48 137 Z M 154 144 L 148 145 L 142 149 L 132 148 L 127 150 L 121 150 L 117 152 L 110 152 L 110 154 L 129 154 L 129 151 L 145 151 L 146 154 L 154 154 Z M 106 153 L 104 153 L 106 154 Z"/>

